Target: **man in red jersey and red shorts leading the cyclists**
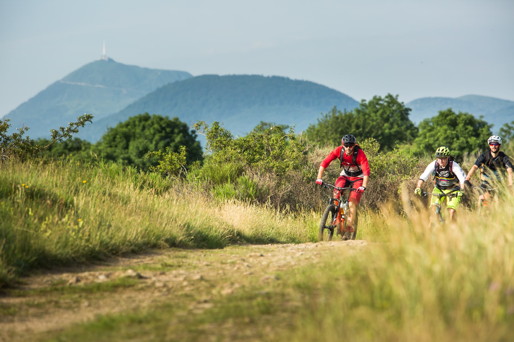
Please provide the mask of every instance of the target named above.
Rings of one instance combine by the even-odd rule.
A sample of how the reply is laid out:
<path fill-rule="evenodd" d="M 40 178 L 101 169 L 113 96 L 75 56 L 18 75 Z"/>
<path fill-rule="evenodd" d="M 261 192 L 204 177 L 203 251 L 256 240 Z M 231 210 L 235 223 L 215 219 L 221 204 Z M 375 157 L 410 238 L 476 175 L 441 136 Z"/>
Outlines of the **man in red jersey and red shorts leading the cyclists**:
<path fill-rule="evenodd" d="M 332 160 L 339 159 L 340 167 L 342 168 L 339 178 L 336 180 L 336 187 L 347 188 L 353 187 L 356 191 L 351 191 L 348 197 L 348 207 L 350 212 L 348 213 L 346 231 L 344 232 L 343 239 L 347 240 L 350 238 L 351 233 L 354 232 L 354 228 L 357 228 L 357 205 L 360 202 L 360 197 L 366 186 L 368 185 L 368 179 L 370 177 L 370 166 L 368 164 L 368 158 L 364 154 L 364 151 L 356 144 L 355 136 L 352 134 L 346 134 L 341 139 L 341 145 L 336 147 L 328 156 L 321 162 L 320 169 L 318 171 L 318 179 L 316 184 L 323 185 L 323 172 L 332 163 Z M 334 198 L 339 198 L 339 190 L 334 190 Z M 337 224 L 337 231 L 341 232 L 341 224 Z"/>

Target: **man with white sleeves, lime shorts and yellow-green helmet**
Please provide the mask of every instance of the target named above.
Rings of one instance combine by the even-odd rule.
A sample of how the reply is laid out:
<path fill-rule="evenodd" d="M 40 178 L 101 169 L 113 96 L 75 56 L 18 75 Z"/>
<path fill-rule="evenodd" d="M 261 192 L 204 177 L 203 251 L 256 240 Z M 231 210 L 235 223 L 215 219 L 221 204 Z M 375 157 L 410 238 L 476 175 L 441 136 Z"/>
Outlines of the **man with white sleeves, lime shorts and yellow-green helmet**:
<path fill-rule="evenodd" d="M 453 160 L 453 157 L 450 156 L 450 149 L 446 146 L 441 146 L 435 151 L 435 160 L 430 163 L 425 172 L 419 176 L 419 180 L 417 183 L 416 190 L 414 190 L 415 194 L 421 195 L 421 186 L 427 181 L 428 177 L 434 176 L 434 190 L 432 193 L 440 194 L 440 193 L 449 193 L 454 189 L 459 189 L 457 191 L 457 197 L 446 197 L 447 200 L 447 208 L 448 213 L 450 214 L 450 220 L 453 220 L 453 215 L 455 210 L 457 210 L 458 206 L 461 203 L 461 197 L 464 194 L 464 179 L 466 178 L 466 173 L 461 169 L 461 167 Z M 437 197 L 432 196 L 430 201 L 430 207 L 435 211 Z M 433 217 L 430 217 L 430 221 L 432 222 Z"/>

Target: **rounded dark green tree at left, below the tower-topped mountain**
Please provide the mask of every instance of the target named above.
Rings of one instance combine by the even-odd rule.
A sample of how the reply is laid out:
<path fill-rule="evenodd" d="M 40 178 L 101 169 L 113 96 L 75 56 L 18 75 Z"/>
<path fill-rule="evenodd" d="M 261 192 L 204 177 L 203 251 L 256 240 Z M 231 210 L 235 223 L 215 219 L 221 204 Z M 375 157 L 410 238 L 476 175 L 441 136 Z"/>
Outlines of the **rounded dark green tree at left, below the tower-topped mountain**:
<path fill-rule="evenodd" d="M 158 165 L 158 158 L 144 158 L 148 152 L 180 152 L 180 146 L 187 148 L 187 163 L 202 160 L 200 143 L 196 133 L 181 122 L 178 117 L 139 114 L 109 128 L 97 143 L 96 149 L 104 159 L 136 165 L 147 171 Z M 169 147 L 169 149 L 167 149 Z"/>

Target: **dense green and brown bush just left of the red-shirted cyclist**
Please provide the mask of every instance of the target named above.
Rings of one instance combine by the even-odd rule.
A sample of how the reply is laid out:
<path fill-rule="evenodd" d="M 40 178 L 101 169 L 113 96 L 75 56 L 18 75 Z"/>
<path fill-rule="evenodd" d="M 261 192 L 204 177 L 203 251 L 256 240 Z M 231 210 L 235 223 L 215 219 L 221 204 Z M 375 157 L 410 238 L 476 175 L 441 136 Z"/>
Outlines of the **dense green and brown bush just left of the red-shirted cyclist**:
<path fill-rule="evenodd" d="M 312 206 L 299 191 L 314 190 L 311 180 L 315 170 L 307 158 L 309 145 L 293 128 L 262 126 L 242 137 L 214 122 L 194 125 L 207 138 L 205 166 L 191 176 L 215 185 L 214 196 L 249 199 L 277 207 Z M 210 178 L 209 178 L 210 177 Z M 309 190 L 307 190 L 309 189 Z M 315 201 L 316 202 L 316 201 Z"/>

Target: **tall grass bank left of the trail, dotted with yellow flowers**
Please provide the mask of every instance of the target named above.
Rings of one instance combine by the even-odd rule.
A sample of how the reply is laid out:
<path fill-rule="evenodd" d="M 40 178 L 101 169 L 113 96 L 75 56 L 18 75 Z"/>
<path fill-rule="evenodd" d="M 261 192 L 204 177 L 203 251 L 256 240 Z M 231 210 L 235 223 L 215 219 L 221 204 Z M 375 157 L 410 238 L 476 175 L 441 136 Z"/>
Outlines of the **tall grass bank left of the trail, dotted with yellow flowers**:
<path fill-rule="evenodd" d="M 316 239 L 313 211 L 232 201 L 100 163 L 4 163 L 0 173 L 0 287 L 34 267 L 166 246 Z"/>

